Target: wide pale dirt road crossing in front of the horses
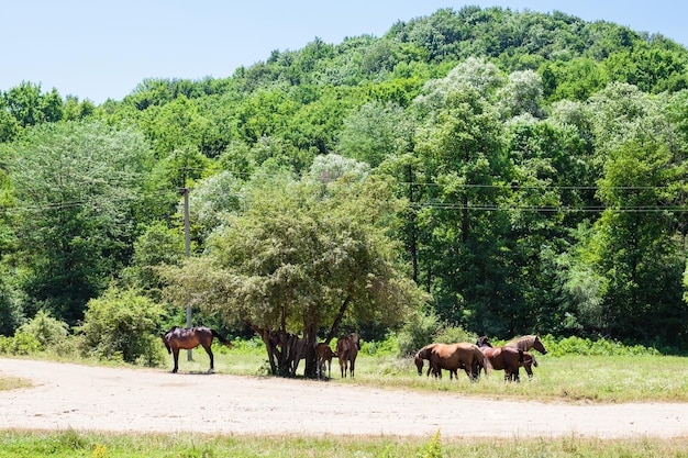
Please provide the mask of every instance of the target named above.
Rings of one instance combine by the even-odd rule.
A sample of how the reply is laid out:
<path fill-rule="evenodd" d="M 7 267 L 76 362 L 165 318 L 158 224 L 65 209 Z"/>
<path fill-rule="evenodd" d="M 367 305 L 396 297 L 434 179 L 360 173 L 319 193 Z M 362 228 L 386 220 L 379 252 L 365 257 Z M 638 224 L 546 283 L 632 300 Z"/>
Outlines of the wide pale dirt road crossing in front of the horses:
<path fill-rule="evenodd" d="M 0 428 L 443 437 L 688 437 L 688 404 L 572 405 L 335 382 L 0 359 Z M 335 421 L 336 418 L 336 421 Z"/>

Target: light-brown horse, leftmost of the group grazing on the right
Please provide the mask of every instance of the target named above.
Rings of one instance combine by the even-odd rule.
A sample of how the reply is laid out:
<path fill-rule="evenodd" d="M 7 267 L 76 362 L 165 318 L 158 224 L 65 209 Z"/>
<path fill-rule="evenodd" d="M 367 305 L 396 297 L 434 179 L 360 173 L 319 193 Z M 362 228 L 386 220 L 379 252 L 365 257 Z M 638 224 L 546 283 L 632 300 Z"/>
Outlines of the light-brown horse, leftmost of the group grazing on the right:
<path fill-rule="evenodd" d="M 476 381 L 480 376 L 480 369 L 484 368 L 487 373 L 491 369 L 489 360 L 482 351 L 473 344 L 460 342 L 458 344 L 431 344 L 426 345 L 414 357 L 418 375 L 423 373 L 423 360 L 430 361 L 430 372 L 442 378 L 442 369 L 450 371 L 450 378 L 457 373 L 459 369 L 466 371 L 466 376 L 471 381 Z"/>

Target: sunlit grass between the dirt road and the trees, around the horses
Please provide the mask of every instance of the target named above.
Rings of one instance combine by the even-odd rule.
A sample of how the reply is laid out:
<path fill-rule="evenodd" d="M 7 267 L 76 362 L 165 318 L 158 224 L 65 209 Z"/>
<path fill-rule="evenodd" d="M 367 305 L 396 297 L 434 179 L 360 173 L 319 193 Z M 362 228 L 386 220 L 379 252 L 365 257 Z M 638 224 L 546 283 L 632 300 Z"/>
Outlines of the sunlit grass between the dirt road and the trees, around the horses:
<path fill-rule="evenodd" d="M 266 376 L 268 366 L 260 348 L 217 348 L 215 372 L 236 376 Z M 537 355 L 537 354 L 536 354 Z M 451 391 L 458 394 L 532 401 L 564 401 L 595 403 L 625 402 L 687 402 L 688 358 L 676 356 L 561 356 L 537 355 L 539 367 L 528 381 L 521 371 L 521 383 L 504 383 L 503 371 L 493 371 L 488 378 L 470 383 L 464 372 L 458 380 L 450 380 L 444 372 L 441 380 L 418 377 L 410 358 L 359 354 L 356 378 L 342 379 L 336 359 L 332 364 L 330 383 L 356 383 L 376 388 Z M 179 357 L 179 370 L 204 371 L 208 356 L 193 353 L 193 361 L 186 354 Z M 167 359 L 171 369 L 171 357 Z M 302 365 L 299 373 L 302 373 Z"/>

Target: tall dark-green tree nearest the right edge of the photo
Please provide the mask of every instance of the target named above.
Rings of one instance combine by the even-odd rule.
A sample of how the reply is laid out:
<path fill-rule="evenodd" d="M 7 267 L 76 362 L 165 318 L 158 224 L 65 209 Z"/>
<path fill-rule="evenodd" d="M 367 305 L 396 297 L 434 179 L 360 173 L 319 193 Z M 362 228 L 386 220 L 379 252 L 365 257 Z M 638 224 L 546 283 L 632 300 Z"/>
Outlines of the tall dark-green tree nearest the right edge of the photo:
<path fill-rule="evenodd" d="M 607 210 L 596 224 L 595 266 L 604 278 L 606 329 L 646 344 L 686 340 L 681 303 L 685 260 L 664 210 L 673 170 L 667 148 L 629 142 L 610 153 L 599 194 Z"/>

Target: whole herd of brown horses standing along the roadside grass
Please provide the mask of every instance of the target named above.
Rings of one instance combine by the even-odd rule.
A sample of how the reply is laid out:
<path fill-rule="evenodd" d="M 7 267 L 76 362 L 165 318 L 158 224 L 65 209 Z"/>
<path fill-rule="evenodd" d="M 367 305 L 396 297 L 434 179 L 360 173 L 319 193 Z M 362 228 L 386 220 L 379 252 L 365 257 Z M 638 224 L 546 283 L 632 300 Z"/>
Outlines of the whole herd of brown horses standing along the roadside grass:
<path fill-rule="evenodd" d="M 173 373 L 179 369 L 179 350 L 191 349 L 199 345 L 203 347 L 210 357 L 209 373 L 214 371 L 214 358 L 211 350 L 213 338 L 229 347 L 232 343 L 222 337 L 217 331 L 206 326 L 184 328 L 174 326 L 162 336 L 167 351 L 174 355 L 175 367 Z M 319 379 L 325 378 L 325 365 L 328 377 L 331 376 L 332 358 L 337 357 L 342 378 L 354 377 L 356 357 L 360 349 L 360 338 L 357 333 L 340 337 L 336 342 L 336 350 L 321 342 L 315 345 L 317 375 Z M 458 376 L 464 369 L 468 379 L 477 381 L 480 371 L 487 375 L 490 370 L 503 370 L 504 380 L 519 381 L 519 369 L 522 367 L 528 373 L 529 380 L 533 378 L 532 367 L 537 367 L 537 360 L 530 353 L 536 349 L 545 355 L 547 350 L 540 339 L 540 335 L 528 335 L 508 343 L 501 347 L 493 347 L 487 336 L 479 337 L 475 344 L 462 342 L 457 344 L 430 344 L 418 350 L 414 356 L 418 375 L 422 376 L 424 361 L 428 360 L 428 376 L 442 378 L 442 370 L 450 371 L 450 378 Z"/>

